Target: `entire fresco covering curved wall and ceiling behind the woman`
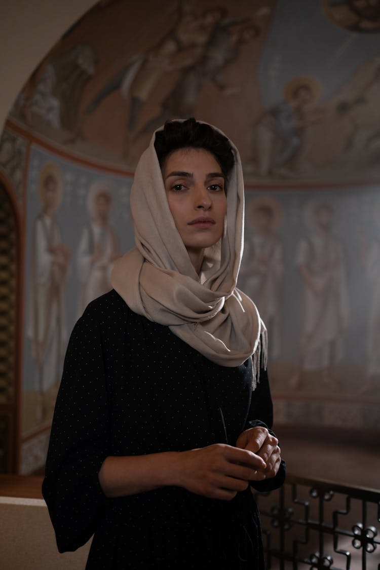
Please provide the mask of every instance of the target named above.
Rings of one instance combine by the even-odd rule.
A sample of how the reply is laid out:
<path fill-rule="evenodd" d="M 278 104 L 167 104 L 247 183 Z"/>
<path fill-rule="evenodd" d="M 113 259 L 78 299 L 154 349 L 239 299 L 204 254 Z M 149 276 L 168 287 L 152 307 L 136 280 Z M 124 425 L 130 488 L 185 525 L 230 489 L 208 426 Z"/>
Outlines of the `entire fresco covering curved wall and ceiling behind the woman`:
<path fill-rule="evenodd" d="M 267 324 L 276 421 L 380 425 L 379 2 L 157 6 L 89 10 L 2 133 L 25 243 L 22 473 L 43 465 L 68 335 L 134 245 L 137 158 L 175 117 L 217 125 L 242 156 L 238 285 Z"/>

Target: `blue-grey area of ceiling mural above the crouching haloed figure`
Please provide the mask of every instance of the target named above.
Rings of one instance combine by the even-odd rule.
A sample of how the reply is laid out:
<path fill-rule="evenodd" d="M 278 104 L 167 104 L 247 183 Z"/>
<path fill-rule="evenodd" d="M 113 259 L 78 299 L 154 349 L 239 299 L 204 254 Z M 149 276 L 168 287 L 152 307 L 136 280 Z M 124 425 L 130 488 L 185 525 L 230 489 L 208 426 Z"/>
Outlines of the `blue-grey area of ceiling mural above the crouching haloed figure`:
<path fill-rule="evenodd" d="M 295 75 L 313 75 L 328 100 L 359 66 L 380 54 L 378 34 L 360 34 L 338 27 L 322 2 L 280 0 L 260 58 L 259 84 L 269 107 L 279 100 L 285 83 Z"/>

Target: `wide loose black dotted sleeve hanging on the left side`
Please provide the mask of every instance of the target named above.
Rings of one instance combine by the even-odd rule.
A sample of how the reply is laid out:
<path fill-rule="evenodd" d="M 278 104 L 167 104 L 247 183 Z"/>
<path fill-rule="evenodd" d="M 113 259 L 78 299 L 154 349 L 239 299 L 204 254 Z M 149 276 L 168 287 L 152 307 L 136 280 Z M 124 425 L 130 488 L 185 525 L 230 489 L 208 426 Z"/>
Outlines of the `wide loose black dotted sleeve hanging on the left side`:
<path fill-rule="evenodd" d="M 109 423 L 100 327 L 89 306 L 68 344 L 42 486 L 59 552 L 85 544 L 107 504 L 98 473 Z"/>

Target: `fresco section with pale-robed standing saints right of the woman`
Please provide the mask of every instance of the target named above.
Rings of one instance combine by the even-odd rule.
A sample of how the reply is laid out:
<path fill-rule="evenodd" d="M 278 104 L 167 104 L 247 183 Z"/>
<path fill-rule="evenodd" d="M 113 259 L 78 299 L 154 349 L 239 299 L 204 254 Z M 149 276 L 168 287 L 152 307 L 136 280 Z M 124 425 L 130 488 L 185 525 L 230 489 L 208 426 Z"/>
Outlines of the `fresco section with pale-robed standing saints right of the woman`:
<path fill-rule="evenodd" d="M 239 285 L 268 324 L 275 393 L 380 398 L 378 188 L 248 191 L 246 206 Z"/>

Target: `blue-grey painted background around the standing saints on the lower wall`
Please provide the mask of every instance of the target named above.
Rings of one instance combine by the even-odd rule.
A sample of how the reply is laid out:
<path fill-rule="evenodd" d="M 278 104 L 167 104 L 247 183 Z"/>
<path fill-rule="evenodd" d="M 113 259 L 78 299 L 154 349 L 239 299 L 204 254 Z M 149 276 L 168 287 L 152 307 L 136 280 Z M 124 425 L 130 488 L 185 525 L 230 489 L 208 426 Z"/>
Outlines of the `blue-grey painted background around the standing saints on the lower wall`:
<path fill-rule="evenodd" d="M 25 315 L 28 319 L 28 303 L 30 303 L 28 283 L 31 280 L 31 233 L 36 215 L 40 210 L 37 196 L 38 174 L 46 162 L 55 162 L 60 166 L 64 178 L 63 199 L 56 214 L 62 231 L 62 239 L 71 250 L 71 264 L 66 290 L 67 330 L 70 333 L 77 318 L 77 295 L 79 281 L 75 263 L 75 254 L 80 241 L 83 226 L 88 221 L 86 198 L 91 183 L 99 178 L 111 181 L 117 190 L 117 205 L 112 218 L 120 240 L 121 251 L 133 247 L 133 228 L 129 213 L 129 192 L 132 177 L 107 174 L 95 168 L 89 168 L 76 162 L 65 160 L 51 154 L 39 146 L 33 146 L 30 159 L 27 205 L 27 240 L 26 240 L 26 287 Z M 375 220 L 379 209 L 378 187 L 358 186 L 352 188 L 315 189 L 280 189 L 280 190 L 246 190 L 246 210 L 250 203 L 258 197 L 270 196 L 278 201 L 284 215 L 277 234 L 284 245 L 285 271 L 283 280 L 283 302 L 281 303 L 280 329 L 281 351 L 278 360 L 294 362 L 297 358 L 301 315 L 302 286 L 296 269 L 295 259 L 297 246 L 302 237 L 307 235 L 308 227 L 304 221 L 305 205 L 318 197 L 321 202 L 328 203 L 334 210 L 332 233 L 343 245 L 349 283 L 350 326 L 345 342 L 345 363 L 365 364 L 366 330 L 369 314 L 371 286 L 367 282 L 361 264 L 360 232 L 365 232 L 368 242 L 378 239 L 380 227 Z M 246 222 L 246 235 L 249 237 L 251 225 Z M 246 290 L 247 294 L 250 291 Z M 260 307 L 259 307 L 260 309 Z M 27 322 L 25 323 L 27 328 Z M 24 344 L 24 389 L 34 386 L 32 370 L 34 363 L 30 356 L 29 340 Z M 285 380 L 285 379 L 284 379 Z M 359 379 L 358 379 L 359 380 Z"/>

